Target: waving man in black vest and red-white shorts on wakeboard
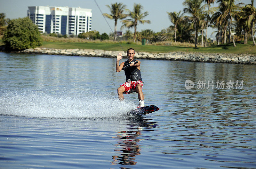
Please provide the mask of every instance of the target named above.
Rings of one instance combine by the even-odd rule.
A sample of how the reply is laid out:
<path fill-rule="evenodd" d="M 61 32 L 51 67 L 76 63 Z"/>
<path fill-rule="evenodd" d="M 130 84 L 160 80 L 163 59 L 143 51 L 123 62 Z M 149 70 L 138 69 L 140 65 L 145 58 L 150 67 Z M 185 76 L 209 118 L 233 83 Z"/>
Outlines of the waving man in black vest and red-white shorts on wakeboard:
<path fill-rule="evenodd" d="M 131 62 L 138 61 L 138 63 L 134 64 L 131 63 L 130 67 L 124 69 L 124 74 L 126 76 L 126 82 L 123 83 L 118 89 L 117 94 L 120 100 L 124 99 L 125 94 L 129 94 L 132 92 L 138 93 L 139 105 L 138 107 L 144 107 L 144 95 L 142 93 L 142 78 L 140 75 L 140 61 L 134 59 L 135 51 L 134 49 L 130 48 L 127 50 L 128 60 L 122 62 L 119 65 L 119 61 L 123 58 L 122 53 L 118 53 L 116 57 L 116 72 L 120 72 L 123 67 L 129 65 Z"/>

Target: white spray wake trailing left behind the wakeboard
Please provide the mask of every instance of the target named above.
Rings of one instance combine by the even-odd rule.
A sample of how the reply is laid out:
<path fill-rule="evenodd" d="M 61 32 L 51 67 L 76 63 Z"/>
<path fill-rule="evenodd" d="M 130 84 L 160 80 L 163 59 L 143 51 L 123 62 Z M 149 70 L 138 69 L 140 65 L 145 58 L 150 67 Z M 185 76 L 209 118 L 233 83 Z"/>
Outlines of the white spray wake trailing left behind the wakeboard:
<path fill-rule="evenodd" d="M 5 94 L 0 97 L 1 115 L 83 118 L 119 117 L 136 108 L 132 102 L 114 96 L 56 96 L 49 94 Z"/>

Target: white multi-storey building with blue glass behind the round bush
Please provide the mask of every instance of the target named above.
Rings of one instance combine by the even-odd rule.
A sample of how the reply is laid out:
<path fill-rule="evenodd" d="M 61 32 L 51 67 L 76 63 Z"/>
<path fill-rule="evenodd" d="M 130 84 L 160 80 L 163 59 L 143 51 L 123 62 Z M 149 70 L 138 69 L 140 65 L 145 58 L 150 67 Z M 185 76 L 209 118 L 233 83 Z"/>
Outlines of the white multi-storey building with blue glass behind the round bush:
<path fill-rule="evenodd" d="M 92 10 L 84 8 L 29 6 L 28 17 L 41 33 L 78 35 L 92 30 Z"/>

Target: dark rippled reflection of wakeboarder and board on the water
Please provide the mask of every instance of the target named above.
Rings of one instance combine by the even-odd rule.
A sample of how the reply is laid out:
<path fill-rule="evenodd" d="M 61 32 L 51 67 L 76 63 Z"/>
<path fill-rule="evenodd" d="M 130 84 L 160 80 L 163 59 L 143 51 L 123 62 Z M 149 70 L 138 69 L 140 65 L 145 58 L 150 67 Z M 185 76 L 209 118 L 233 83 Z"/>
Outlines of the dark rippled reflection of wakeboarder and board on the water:
<path fill-rule="evenodd" d="M 143 141 L 143 131 L 155 131 L 157 123 L 152 122 L 151 119 L 144 119 L 143 117 L 129 119 L 132 125 L 130 130 L 117 131 L 114 138 L 117 143 L 114 151 L 121 151 L 117 155 L 113 155 L 111 165 L 136 165 L 136 156 L 140 155 L 140 142 Z M 150 121 L 150 122 L 149 122 Z M 147 135 L 148 136 L 148 135 Z M 140 138 L 138 138 L 140 137 Z"/>

